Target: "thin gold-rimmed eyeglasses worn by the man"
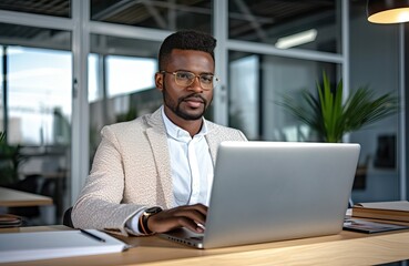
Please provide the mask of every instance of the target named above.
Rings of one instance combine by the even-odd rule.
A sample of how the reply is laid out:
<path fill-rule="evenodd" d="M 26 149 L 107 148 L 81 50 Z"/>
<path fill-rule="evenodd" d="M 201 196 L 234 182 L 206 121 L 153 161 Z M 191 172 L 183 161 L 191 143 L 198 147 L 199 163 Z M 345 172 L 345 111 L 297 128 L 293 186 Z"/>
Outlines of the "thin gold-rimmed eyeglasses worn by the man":
<path fill-rule="evenodd" d="M 167 72 L 161 71 L 161 73 L 165 74 L 173 74 L 175 76 L 175 83 L 180 86 L 190 86 L 193 84 L 196 78 L 201 83 L 203 90 L 212 90 L 216 86 L 218 82 L 218 78 L 214 74 L 200 74 L 196 75 L 195 73 L 188 71 L 175 71 L 175 72 Z"/>

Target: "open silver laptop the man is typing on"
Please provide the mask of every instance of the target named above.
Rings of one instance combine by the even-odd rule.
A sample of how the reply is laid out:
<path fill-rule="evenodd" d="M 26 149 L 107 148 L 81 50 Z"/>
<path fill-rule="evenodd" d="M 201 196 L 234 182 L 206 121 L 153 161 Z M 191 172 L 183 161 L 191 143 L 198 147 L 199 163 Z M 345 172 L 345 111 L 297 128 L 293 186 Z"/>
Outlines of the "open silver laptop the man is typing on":
<path fill-rule="evenodd" d="M 198 248 L 338 234 L 359 144 L 223 142 L 203 235 L 162 237 Z"/>

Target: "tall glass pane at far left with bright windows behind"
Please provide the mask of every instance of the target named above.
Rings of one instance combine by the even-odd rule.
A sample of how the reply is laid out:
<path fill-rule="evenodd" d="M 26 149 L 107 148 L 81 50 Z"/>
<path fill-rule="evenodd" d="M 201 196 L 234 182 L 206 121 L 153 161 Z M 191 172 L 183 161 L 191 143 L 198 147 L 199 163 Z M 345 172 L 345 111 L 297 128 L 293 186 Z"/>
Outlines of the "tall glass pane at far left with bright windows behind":
<path fill-rule="evenodd" d="M 7 140 L 0 150 L 0 184 L 52 197 L 52 206 L 9 212 L 29 225 L 57 224 L 70 195 L 71 34 L 8 23 L 0 23 L 0 32 L 7 81 L 1 83 Z"/>

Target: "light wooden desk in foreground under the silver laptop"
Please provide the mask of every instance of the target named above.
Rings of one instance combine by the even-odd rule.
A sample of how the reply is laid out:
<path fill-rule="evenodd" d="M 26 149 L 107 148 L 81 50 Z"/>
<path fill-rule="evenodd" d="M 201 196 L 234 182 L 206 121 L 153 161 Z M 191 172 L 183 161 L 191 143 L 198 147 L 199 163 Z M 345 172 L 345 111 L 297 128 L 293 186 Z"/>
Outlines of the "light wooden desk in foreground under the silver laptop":
<path fill-rule="evenodd" d="M 21 227 L 1 232 L 69 229 Z M 121 237 L 136 247 L 124 253 L 8 265 L 375 265 L 409 259 L 409 229 L 376 235 L 338 235 L 200 250 L 157 236 Z"/>

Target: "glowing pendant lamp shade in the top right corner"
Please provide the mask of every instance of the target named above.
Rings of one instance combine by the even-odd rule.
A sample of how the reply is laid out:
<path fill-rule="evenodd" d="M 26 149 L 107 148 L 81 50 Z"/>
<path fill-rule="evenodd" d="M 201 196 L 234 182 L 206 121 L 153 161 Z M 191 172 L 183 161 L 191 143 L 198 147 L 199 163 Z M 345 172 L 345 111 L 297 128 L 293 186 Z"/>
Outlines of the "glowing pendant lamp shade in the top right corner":
<path fill-rule="evenodd" d="M 368 0 L 368 21 L 372 23 L 401 23 L 409 21 L 409 0 Z"/>

